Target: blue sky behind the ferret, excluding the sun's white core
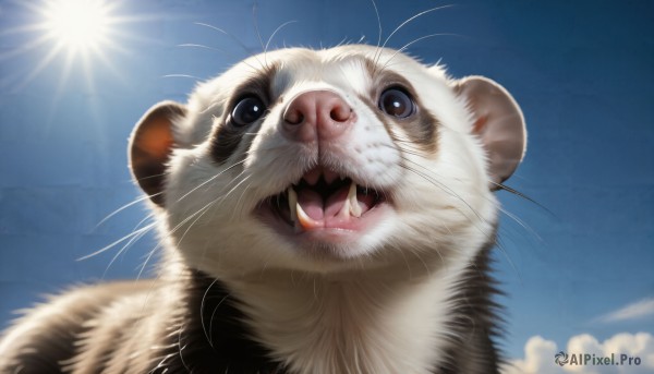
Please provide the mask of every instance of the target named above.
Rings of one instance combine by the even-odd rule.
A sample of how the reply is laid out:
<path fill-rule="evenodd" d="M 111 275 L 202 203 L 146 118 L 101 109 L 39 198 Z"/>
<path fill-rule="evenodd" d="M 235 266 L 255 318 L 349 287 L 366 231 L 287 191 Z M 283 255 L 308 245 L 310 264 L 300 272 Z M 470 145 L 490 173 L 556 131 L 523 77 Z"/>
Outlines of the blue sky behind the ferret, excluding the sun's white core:
<path fill-rule="evenodd" d="M 43 39 L 34 25 L 44 4 L 0 1 L 3 326 L 39 294 L 138 274 L 153 238 L 76 261 L 146 215 L 136 204 L 98 225 L 140 196 L 126 169 L 130 131 L 150 105 L 184 101 L 197 80 L 261 51 L 255 22 L 267 39 L 298 21 L 275 47 L 374 44 L 378 33 L 368 0 L 261 1 L 255 14 L 252 1 L 113 1 L 108 43 L 85 55 Z M 383 34 L 446 4 L 388 46 L 449 34 L 409 51 L 453 76 L 494 79 L 524 111 L 528 155 L 509 185 L 537 204 L 500 193 L 512 217 L 502 217 L 496 251 L 508 354 L 522 359 L 535 336 L 565 349 L 582 334 L 602 343 L 654 333 L 654 3 L 377 0 Z"/>

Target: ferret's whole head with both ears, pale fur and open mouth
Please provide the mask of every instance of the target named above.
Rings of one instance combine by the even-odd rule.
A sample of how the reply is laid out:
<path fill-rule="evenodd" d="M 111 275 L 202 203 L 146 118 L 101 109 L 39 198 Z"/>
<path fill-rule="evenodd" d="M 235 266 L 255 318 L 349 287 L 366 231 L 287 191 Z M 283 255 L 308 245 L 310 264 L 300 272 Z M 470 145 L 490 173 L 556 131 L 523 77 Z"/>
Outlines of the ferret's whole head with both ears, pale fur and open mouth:
<path fill-rule="evenodd" d="M 162 234 L 217 277 L 433 268 L 493 240 L 520 162 L 519 107 L 390 49 L 282 49 L 160 102 L 133 174 Z"/>

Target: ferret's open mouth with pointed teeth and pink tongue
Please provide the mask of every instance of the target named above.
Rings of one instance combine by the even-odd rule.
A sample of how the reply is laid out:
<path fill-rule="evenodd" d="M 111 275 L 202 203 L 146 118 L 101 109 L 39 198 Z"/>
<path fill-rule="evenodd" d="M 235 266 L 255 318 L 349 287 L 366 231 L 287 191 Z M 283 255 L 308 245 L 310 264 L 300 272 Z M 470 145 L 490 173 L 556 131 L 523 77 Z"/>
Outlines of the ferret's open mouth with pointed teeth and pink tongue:
<path fill-rule="evenodd" d="M 386 202 L 383 192 L 316 167 L 286 191 L 265 198 L 262 208 L 295 233 L 320 229 L 358 231 Z"/>

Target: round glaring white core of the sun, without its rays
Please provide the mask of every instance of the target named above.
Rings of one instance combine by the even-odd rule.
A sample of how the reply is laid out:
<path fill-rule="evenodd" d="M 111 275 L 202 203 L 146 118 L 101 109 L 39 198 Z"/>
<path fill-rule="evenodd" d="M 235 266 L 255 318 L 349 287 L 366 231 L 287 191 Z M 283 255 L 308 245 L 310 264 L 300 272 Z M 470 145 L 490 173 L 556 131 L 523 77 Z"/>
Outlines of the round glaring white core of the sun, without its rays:
<path fill-rule="evenodd" d="M 108 43 L 110 8 L 101 0 L 50 0 L 43 9 L 48 38 L 71 51 Z"/>

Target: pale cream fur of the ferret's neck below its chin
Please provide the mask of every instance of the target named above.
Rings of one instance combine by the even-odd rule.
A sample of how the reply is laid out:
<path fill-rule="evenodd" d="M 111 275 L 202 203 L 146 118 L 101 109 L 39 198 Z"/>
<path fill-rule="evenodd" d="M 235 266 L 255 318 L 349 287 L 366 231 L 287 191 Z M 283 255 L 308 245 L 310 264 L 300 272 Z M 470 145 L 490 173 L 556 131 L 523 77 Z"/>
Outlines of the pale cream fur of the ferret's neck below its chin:
<path fill-rule="evenodd" d="M 432 373 L 464 265 L 414 278 L 294 274 L 229 281 L 254 335 L 293 373 Z M 448 333 L 449 331 L 449 333 Z"/>

